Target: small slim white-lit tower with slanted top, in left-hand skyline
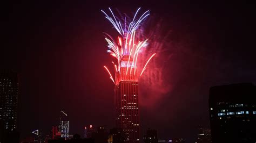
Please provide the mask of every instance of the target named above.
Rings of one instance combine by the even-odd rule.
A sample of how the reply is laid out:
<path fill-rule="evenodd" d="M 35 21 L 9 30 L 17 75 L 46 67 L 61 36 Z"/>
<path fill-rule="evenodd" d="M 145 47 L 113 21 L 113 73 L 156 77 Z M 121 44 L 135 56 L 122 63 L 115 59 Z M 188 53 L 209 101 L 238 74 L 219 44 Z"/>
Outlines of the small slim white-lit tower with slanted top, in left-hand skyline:
<path fill-rule="evenodd" d="M 60 111 L 61 115 L 59 118 L 59 132 L 61 133 L 60 137 L 68 139 L 69 138 L 69 119 L 68 114 Z"/>

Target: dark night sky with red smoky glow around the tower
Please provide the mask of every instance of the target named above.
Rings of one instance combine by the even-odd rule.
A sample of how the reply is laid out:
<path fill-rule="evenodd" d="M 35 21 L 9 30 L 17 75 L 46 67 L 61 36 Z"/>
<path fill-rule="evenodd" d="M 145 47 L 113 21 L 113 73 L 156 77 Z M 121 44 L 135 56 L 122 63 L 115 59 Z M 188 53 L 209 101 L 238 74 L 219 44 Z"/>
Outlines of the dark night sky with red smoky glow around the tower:
<path fill-rule="evenodd" d="M 117 32 L 100 12 L 108 7 L 131 17 L 139 7 L 150 10 L 145 33 L 159 24 L 158 39 L 166 37 L 139 84 L 141 134 L 153 128 L 159 139 L 192 142 L 198 124 L 209 126 L 211 86 L 256 84 L 254 4 L 32 1 L 1 7 L 0 68 L 21 75 L 22 137 L 36 129 L 50 134 L 60 110 L 68 113 L 71 134 L 83 136 L 89 124 L 114 127 L 114 85 L 103 68 L 112 67 L 113 58 L 103 32 Z M 159 71 L 153 83 L 146 79 L 150 71 Z"/>

